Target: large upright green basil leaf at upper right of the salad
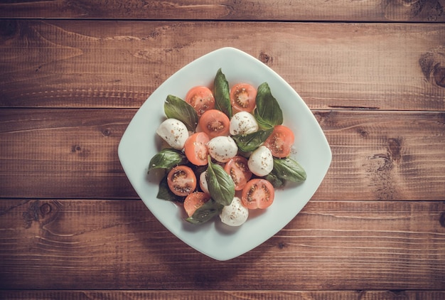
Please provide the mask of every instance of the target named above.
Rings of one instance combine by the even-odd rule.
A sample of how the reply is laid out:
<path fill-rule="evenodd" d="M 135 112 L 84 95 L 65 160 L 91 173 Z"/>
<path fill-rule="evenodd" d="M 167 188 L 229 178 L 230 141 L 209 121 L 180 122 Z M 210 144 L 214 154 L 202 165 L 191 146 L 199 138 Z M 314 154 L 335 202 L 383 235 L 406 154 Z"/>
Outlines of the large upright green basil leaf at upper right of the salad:
<path fill-rule="evenodd" d="M 259 85 L 255 102 L 257 103 L 257 107 L 254 110 L 254 116 L 260 127 L 269 129 L 283 123 L 282 109 L 279 107 L 274 96 L 272 96 L 267 82 Z"/>

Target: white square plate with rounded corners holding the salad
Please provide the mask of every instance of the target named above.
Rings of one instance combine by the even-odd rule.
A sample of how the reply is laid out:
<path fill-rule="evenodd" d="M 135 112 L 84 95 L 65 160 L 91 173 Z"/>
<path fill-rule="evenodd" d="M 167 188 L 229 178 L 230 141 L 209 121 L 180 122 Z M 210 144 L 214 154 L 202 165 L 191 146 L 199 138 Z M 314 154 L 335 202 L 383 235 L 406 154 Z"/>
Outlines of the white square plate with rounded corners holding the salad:
<path fill-rule="evenodd" d="M 267 82 L 284 114 L 284 125 L 295 134 L 291 157 L 304 167 L 304 183 L 277 189 L 274 203 L 264 211 L 251 210 L 240 227 L 229 227 L 218 216 L 203 225 L 192 225 L 184 218 L 183 208 L 156 198 L 159 177 L 147 176 L 149 161 L 159 148 L 156 129 L 165 119 L 163 103 L 167 95 L 184 99 L 195 85 L 213 87 L 219 68 L 230 87 L 248 82 L 258 87 Z M 272 69 L 235 48 L 220 48 L 178 70 L 156 89 L 129 123 L 118 149 L 119 159 L 136 193 L 151 213 L 173 235 L 195 250 L 227 260 L 262 244 L 281 230 L 308 203 L 331 164 L 331 149 L 316 118 L 295 90 Z"/>

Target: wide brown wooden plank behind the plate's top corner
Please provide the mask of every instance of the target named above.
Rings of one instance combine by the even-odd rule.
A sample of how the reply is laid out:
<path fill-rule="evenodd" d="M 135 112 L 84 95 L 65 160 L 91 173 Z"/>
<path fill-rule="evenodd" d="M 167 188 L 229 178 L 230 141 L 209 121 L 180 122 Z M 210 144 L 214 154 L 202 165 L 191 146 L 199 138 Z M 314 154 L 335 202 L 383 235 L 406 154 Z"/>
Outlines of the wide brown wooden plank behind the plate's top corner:
<path fill-rule="evenodd" d="M 445 23 L 3 20 L 0 28 L 1 107 L 136 108 L 183 65 L 232 46 L 269 65 L 311 109 L 445 109 Z"/>

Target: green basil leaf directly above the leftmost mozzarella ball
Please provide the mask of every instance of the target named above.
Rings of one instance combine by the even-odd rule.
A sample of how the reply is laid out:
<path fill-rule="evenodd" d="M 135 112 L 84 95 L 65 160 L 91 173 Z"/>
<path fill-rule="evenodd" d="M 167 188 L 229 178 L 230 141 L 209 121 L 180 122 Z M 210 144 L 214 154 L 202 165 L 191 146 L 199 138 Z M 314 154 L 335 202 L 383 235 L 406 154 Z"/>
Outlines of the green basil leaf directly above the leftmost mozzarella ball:
<path fill-rule="evenodd" d="M 163 111 L 168 118 L 178 119 L 187 129 L 194 132 L 198 125 L 198 114 L 195 109 L 179 97 L 168 95 L 163 104 Z"/>

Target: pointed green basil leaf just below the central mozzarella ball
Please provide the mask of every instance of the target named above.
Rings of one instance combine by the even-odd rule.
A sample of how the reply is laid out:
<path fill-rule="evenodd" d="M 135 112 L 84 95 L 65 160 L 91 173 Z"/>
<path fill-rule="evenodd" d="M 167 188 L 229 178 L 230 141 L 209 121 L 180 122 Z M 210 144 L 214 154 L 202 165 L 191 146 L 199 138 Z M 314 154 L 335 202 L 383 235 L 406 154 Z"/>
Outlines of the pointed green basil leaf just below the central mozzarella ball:
<path fill-rule="evenodd" d="M 224 171 L 224 168 L 218 164 L 213 164 L 210 156 L 208 158 L 207 173 L 205 179 L 208 184 L 208 191 L 217 203 L 230 205 L 235 197 L 235 183 L 232 177 Z"/>

